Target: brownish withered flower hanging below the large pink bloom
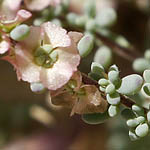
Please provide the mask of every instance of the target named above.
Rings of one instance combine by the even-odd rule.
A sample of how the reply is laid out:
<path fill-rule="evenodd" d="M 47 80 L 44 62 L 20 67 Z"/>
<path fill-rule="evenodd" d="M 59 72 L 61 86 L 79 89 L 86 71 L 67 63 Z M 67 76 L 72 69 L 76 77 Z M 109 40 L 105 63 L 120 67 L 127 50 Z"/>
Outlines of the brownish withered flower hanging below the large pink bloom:
<path fill-rule="evenodd" d="M 108 106 L 96 86 L 82 83 L 81 73 L 78 71 L 64 87 L 50 92 L 50 95 L 54 105 L 71 108 L 71 115 L 74 113 L 103 113 Z"/>

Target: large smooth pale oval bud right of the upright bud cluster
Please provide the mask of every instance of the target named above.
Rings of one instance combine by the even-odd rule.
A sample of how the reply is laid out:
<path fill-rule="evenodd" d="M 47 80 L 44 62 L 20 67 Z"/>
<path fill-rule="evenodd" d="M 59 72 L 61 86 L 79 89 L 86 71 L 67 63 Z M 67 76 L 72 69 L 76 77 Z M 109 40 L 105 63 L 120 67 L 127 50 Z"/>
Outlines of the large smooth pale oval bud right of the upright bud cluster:
<path fill-rule="evenodd" d="M 117 90 L 123 95 L 134 95 L 139 92 L 143 85 L 143 78 L 138 74 L 132 74 L 124 77 L 120 88 Z"/>

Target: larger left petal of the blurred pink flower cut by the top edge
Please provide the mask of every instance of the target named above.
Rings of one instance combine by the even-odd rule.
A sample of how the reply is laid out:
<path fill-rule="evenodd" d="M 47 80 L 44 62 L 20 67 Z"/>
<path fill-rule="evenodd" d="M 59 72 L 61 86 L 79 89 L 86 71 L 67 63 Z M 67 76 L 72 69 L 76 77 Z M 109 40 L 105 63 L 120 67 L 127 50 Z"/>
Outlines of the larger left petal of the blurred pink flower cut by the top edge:
<path fill-rule="evenodd" d="M 24 0 L 26 7 L 32 11 L 40 11 L 50 5 L 51 0 Z"/>

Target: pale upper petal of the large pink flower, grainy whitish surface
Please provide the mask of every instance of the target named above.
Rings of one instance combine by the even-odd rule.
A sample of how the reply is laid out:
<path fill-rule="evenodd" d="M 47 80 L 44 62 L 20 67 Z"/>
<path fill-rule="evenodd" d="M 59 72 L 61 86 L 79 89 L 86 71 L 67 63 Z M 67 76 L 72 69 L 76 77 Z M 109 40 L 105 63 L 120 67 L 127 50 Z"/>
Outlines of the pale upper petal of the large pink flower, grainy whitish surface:
<path fill-rule="evenodd" d="M 70 37 L 67 35 L 67 31 L 65 29 L 52 24 L 51 22 L 44 23 L 42 28 L 53 48 L 68 47 L 71 45 Z"/>

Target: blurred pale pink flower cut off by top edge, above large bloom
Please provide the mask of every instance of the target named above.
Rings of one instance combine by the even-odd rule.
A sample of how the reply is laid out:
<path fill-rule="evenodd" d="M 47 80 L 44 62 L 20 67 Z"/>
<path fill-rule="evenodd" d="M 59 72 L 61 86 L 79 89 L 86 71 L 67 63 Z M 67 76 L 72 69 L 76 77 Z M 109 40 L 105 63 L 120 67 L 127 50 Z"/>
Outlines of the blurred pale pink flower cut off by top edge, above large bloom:
<path fill-rule="evenodd" d="M 26 7 L 32 11 L 40 11 L 49 5 L 57 6 L 61 0 L 24 0 Z"/>

